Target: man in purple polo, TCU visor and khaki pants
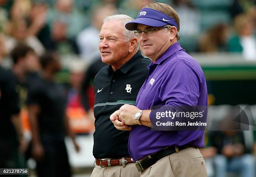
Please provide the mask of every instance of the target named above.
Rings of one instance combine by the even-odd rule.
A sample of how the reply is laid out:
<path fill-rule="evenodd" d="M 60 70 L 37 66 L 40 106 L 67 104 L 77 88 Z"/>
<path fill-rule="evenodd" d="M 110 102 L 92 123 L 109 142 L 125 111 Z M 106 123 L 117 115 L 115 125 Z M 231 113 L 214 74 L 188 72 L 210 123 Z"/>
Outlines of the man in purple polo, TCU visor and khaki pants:
<path fill-rule="evenodd" d="M 178 42 L 177 13 L 167 4 L 152 3 L 142 8 L 137 19 L 125 28 L 136 30 L 141 51 L 152 60 L 136 106 L 125 104 L 110 116 L 117 129 L 130 131 L 128 149 L 138 171 L 143 177 L 160 174 L 161 177 L 207 177 L 205 161 L 198 149 L 204 147 L 204 131 L 186 130 L 184 127 L 191 127 L 176 124 L 181 120 L 177 115 L 165 121 L 168 115 L 173 115 L 169 111 L 178 114 L 192 106 L 207 106 L 202 68 Z M 191 110 L 186 113 L 189 117 L 183 120 L 189 124 L 189 119 L 200 119 L 198 114 L 206 117 L 207 109 L 197 114 L 191 114 Z M 153 131 L 161 127 L 166 130 L 167 124 L 163 122 L 168 122 L 169 131 Z"/>

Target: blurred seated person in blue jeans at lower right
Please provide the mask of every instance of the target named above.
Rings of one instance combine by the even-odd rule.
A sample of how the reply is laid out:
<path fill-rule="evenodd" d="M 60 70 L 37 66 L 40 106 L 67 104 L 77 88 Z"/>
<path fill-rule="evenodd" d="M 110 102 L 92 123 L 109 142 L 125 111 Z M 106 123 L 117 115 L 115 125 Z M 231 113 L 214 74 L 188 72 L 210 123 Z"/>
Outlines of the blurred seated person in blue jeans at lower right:
<path fill-rule="evenodd" d="M 214 157 L 215 176 L 225 177 L 226 172 L 240 173 L 241 177 L 255 177 L 255 159 L 246 147 L 243 131 L 212 131 L 210 146 L 216 147 Z"/>

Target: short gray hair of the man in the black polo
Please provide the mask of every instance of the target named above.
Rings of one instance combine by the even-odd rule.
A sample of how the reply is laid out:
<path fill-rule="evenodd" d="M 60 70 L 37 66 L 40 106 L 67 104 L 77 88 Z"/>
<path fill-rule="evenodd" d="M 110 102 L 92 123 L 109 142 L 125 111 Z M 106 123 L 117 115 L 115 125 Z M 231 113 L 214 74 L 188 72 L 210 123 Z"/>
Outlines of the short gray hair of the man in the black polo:
<path fill-rule="evenodd" d="M 125 26 L 126 23 L 131 22 L 134 19 L 124 14 L 111 15 L 104 18 L 103 23 L 108 22 L 110 20 L 118 20 L 123 24 L 123 26 Z M 124 28 L 123 30 L 123 35 L 125 38 L 125 42 L 128 42 L 132 38 L 136 37 L 136 35 L 134 34 L 134 31 L 127 30 L 126 28 Z"/>

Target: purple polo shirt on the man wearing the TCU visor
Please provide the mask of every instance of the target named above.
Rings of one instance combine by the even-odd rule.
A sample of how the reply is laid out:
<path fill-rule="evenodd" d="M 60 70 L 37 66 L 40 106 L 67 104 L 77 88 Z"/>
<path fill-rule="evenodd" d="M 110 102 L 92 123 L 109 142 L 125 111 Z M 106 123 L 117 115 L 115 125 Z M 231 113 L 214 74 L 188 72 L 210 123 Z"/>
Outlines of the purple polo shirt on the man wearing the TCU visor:
<path fill-rule="evenodd" d="M 207 87 L 200 65 L 189 56 L 179 42 L 174 43 L 148 66 L 136 106 L 141 110 L 152 106 L 207 106 Z M 152 115 L 150 114 L 152 122 Z M 159 152 L 165 147 L 192 145 L 204 147 L 204 131 L 153 131 L 147 126 L 132 126 L 128 150 L 134 160 Z"/>

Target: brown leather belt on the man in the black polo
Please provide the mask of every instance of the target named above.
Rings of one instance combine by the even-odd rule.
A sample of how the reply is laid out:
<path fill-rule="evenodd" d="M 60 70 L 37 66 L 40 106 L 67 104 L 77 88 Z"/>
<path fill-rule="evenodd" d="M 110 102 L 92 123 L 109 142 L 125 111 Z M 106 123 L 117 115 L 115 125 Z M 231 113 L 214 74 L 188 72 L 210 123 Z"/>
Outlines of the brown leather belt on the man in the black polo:
<path fill-rule="evenodd" d="M 131 161 L 131 157 L 125 157 L 124 158 L 125 164 L 134 163 Z M 108 167 L 113 165 L 123 165 L 122 159 L 96 159 L 96 164 L 100 167 Z"/>

